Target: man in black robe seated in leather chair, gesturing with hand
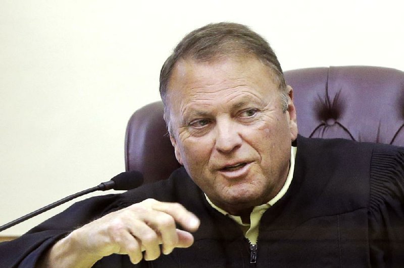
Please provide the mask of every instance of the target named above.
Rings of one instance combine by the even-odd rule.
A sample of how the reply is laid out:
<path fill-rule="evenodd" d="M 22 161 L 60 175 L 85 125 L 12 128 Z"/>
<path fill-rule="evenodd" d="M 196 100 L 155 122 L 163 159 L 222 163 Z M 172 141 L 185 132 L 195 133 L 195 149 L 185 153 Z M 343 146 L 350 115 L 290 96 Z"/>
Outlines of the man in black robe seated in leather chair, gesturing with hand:
<path fill-rule="evenodd" d="M 75 204 L 1 247 L 8 266 L 404 263 L 404 150 L 298 137 L 293 90 L 259 35 L 232 23 L 197 29 L 160 83 L 183 168 Z"/>

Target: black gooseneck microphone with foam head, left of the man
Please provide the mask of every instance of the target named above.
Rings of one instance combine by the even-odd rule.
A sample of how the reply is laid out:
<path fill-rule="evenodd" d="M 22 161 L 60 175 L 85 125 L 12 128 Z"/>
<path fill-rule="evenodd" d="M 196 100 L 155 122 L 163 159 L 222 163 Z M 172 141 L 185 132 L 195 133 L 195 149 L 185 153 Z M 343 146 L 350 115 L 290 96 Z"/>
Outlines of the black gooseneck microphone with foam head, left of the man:
<path fill-rule="evenodd" d="M 54 202 L 50 205 L 47 205 L 43 208 L 40 208 L 39 210 L 36 210 L 34 212 L 31 212 L 25 216 L 22 216 L 21 218 L 18 218 L 17 220 L 14 220 L 12 222 L 9 222 L 5 225 L 0 226 L 0 232 L 9 229 L 10 227 L 13 227 L 14 225 L 17 225 L 19 223 L 22 223 L 28 219 L 31 219 L 32 217 L 35 217 L 41 213 L 44 213 L 45 211 L 51 210 L 55 207 L 58 207 L 62 204 L 65 204 L 66 202 L 69 202 L 70 200 L 80 197 L 84 194 L 94 192 L 94 191 L 106 191 L 110 189 L 114 190 L 130 190 L 139 187 L 143 183 L 143 175 L 139 171 L 127 171 L 127 172 L 122 172 L 115 177 L 113 177 L 111 180 L 102 182 L 98 184 L 95 187 L 77 192 L 75 194 L 69 195 L 63 199 L 60 199 L 57 202 Z"/>

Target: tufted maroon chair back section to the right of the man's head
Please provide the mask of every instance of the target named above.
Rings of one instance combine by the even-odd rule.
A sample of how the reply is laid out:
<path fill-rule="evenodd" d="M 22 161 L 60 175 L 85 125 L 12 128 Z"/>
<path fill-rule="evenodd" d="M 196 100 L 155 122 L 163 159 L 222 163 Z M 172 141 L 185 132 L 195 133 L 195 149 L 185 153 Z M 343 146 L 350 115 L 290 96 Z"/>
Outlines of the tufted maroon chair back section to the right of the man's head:
<path fill-rule="evenodd" d="M 404 146 L 404 73 L 346 66 L 285 72 L 300 135 Z"/>

